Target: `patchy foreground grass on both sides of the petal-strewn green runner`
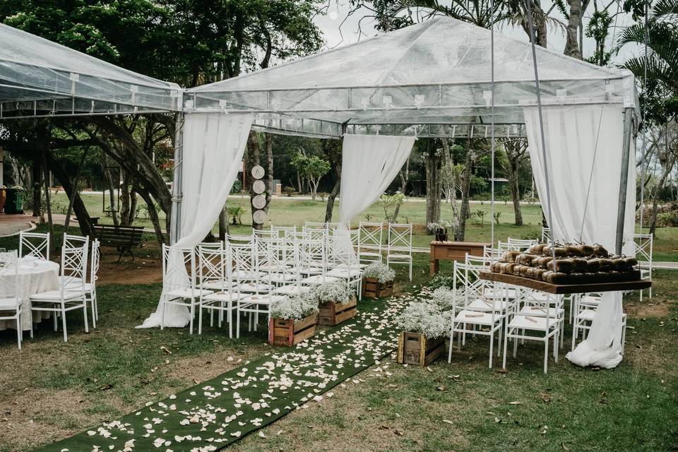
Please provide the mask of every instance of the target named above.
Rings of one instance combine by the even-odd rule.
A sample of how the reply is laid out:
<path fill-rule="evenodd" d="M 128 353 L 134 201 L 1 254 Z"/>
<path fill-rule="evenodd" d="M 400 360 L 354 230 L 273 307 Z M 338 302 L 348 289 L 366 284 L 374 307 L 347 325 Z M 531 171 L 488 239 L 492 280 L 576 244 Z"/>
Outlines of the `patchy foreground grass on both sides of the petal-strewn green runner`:
<path fill-rule="evenodd" d="M 281 201 L 282 203 L 283 201 Z M 297 203 L 297 201 L 284 201 Z M 307 201 L 299 201 L 307 202 Z M 282 205 L 280 210 L 285 210 Z M 418 206 L 418 205 L 417 205 Z M 312 207 L 312 206 L 311 206 Z M 291 209 L 290 209 L 291 210 Z M 285 210 L 280 215 L 299 218 Z M 303 218 L 303 217 L 302 217 Z M 302 220 L 299 220 L 302 221 Z M 283 223 L 280 223 L 283 224 Z M 506 225 L 510 228 L 510 225 Z M 516 230 L 516 233 L 528 230 Z M 510 231 L 510 229 L 507 229 Z M 536 230 L 536 227 L 535 227 Z M 511 233 L 513 233 L 511 231 Z M 472 225 L 482 238 L 487 225 Z M 425 236 L 422 236 L 422 238 Z M 671 253 L 674 231 L 660 251 Z M 664 242 L 666 241 L 666 242 Z M 16 238 L 0 240 L 16 246 Z M 105 254 L 98 290 L 100 323 L 83 332 L 81 314 L 69 314 L 69 343 L 40 324 L 34 340 L 16 350 L 13 330 L 0 331 L 0 451 L 32 448 L 81 432 L 146 402 L 238 367 L 239 359 L 269 350 L 266 328 L 230 340 L 225 329 L 133 328 L 155 309 L 160 284 L 105 283 L 115 273 L 134 278 L 157 261 L 152 236 L 136 261 L 115 264 Z M 442 271 L 449 270 L 442 266 Z M 157 267 L 154 270 L 159 273 Z M 400 292 L 426 284 L 428 256 L 415 255 L 414 280 L 397 268 Z M 653 299 L 626 297 L 626 355 L 613 370 L 581 369 L 564 359 L 542 374 L 543 349 L 518 348 L 508 371 L 487 368 L 487 340 L 469 340 L 430 370 L 392 363 L 335 396 L 313 403 L 247 436 L 234 451 L 668 451 L 678 448 L 678 273 L 655 271 Z M 119 276 L 119 275 L 117 275 Z M 119 278 L 118 278 L 119 279 Z M 245 328 L 246 329 L 246 328 Z"/>

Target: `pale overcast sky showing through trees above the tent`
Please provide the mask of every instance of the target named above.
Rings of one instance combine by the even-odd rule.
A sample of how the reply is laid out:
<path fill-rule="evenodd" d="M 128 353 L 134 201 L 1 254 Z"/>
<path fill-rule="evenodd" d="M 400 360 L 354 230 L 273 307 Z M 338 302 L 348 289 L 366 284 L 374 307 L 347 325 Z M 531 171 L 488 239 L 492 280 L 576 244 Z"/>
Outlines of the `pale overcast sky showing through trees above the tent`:
<path fill-rule="evenodd" d="M 445 3 L 446 2 L 441 1 L 441 4 Z M 552 2 L 550 0 L 546 0 L 544 2 L 545 5 L 548 5 L 547 8 L 550 7 L 551 3 Z M 362 21 L 362 36 L 358 33 L 358 21 L 367 14 L 367 11 L 358 11 L 357 13 L 354 13 L 344 21 L 340 28 L 340 24 L 347 17 L 347 13 L 350 11 L 348 0 L 328 0 L 328 4 L 328 14 L 326 16 L 318 16 L 316 18 L 316 23 L 319 25 L 321 30 L 323 30 L 325 35 L 327 47 L 337 47 L 350 44 L 352 42 L 358 41 L 359 39 L 365 39 L 366 37 L 371 37 L 377 34 L 376 30 L 374 30 L 374 23 L 371 23 L 371 19 L 369 18 L 365 18 Z M 616 13 L 617 8 L 614 6 L 612 8 L 612 13 Z M 585 14 L 584 26 L 586 26 L 586 23 L 588 23 L 588 18 L 590 17 L 591 11 L 593 11 L 593 4 L 589 6 L 588 11 Z M 554 13 L 552 13 L 552 16 L 559 18 L 563 22 L 565 21 L 565 19 L 559 13 L 555 12 L 555 10 Z M 617 17 L 617 33 L 621 32 L 622 28 L 632 22 L 633 20 L 631 19 L 630 15 L 626 15 L 624 13 L 620 14 Z M 522 28 L 513 27 L 508 23 L 499 25 L 497 32 L 521 41 L 527 41 L 528 39 Z M 607 40 L 608 48 L 610 47 L 611 43 L 612 36 L 610 36 Z M 557 30 L 556 28 L 549 29 L 548 47 L 549 49 L 552 49 L 556 52 L 563 52 L 563 49 L 565 48 L 565 36 L 561 30 Z M 584 57 L 590 57 L 594 50 L 595 41 L 588 37 L 584 37 Z M 634 47 L 624 47 L 618 56 L 612 56 L 612 64 L 621 64 L 634 52 L 636 52 Z"/>

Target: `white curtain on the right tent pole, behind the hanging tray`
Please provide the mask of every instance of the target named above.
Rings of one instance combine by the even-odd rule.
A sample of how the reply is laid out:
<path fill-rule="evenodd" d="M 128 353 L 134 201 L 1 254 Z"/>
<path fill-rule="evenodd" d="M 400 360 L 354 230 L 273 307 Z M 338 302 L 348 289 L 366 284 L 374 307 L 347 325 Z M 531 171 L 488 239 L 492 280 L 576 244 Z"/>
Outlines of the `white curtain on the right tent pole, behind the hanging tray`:
<path fill-rule="evenodd" d="M 598 243 L 614 251 L 622 172 L 621 105 L 542 107 L 554 239 Z M 524 107 L 530 160 L 545 217 L 547 206 L 537 107 Z M 633 148 L 631 149 L 633 151 Z M 633 154 L 631 154 L 633 155 Z M 636 207 L 634 159 L 629 162 L 624 242 L 633 241 Z M 615 367 L 622 360 L 622 293 L 605 294 L 588 338 L 567 358 L 578 365 Z"/>

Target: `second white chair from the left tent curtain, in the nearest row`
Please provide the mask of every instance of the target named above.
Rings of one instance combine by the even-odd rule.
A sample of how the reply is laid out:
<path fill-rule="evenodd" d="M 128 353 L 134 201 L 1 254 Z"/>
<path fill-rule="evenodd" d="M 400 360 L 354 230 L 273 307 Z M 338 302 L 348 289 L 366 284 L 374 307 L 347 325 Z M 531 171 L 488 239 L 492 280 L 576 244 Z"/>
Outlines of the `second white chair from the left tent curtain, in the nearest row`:
<path fill-rule="evenodd" d="M 214 313 L 218 313 L 221 327 L 227 315 L 228 337 L 233 337 L 233 311 L 237 309 L 239 293 L 233 290 L 232 256 L 230 246 L 215 248 L 198 246 L 198 282 L 209 287 L 212 293 L 201 293 L 198 306 L 198 334 L 203 333 L 203 309 L 210 312 L 210 326 L 214 326 Z"/>

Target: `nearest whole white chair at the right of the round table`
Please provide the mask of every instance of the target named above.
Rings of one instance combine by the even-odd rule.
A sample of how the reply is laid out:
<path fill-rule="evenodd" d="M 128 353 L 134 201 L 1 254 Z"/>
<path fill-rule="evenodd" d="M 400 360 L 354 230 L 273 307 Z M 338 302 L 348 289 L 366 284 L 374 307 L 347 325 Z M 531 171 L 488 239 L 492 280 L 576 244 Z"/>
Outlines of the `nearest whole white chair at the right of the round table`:
<path fill-rule="evenodd" d="M 66 332 L 66 312 L 83 309 L 85 332 L 88 333 L 87 297 L 83 281 L 87 278 L 88 239 L 81 246 L 61 247 L 61 278 L 59 289 L 40 292 L 30 296 L 32 311 L 51 312 L 54 318 L 54 331 L 57 331 L 57 314 L 61 316 L 64 328 L 64 342 L 69 340 Z"/>

